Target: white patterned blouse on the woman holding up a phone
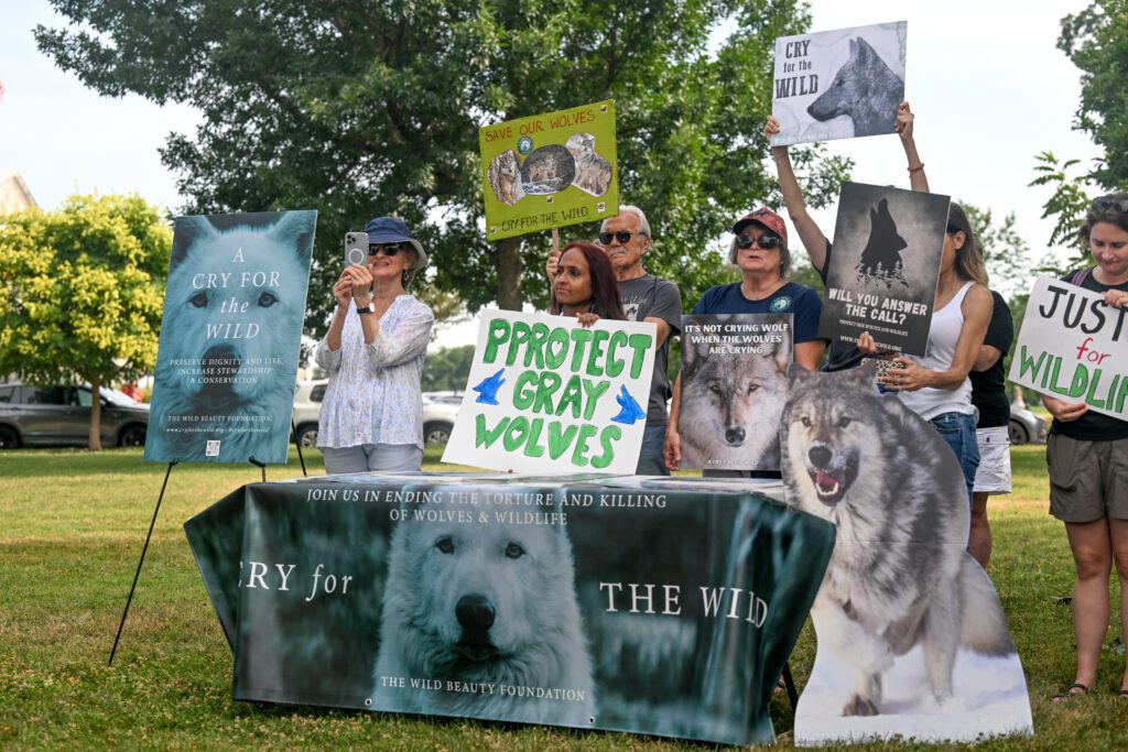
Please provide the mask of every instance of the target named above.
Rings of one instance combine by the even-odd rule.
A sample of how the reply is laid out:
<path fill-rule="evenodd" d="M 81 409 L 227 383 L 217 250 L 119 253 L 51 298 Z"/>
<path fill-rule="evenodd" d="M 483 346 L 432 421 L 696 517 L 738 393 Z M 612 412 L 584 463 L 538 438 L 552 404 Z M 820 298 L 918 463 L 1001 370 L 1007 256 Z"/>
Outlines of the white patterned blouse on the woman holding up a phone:
<path fill-rule="evenodd" d="M 314 360 L 329 372 L 317 445 L 415 444 L 423 448 L 423 355 L 434 313 L 402 294 L 380 317 L 380 331 L 364 344 L 360 315 L 350 307 L 341 350 L 323 338 Z"/>

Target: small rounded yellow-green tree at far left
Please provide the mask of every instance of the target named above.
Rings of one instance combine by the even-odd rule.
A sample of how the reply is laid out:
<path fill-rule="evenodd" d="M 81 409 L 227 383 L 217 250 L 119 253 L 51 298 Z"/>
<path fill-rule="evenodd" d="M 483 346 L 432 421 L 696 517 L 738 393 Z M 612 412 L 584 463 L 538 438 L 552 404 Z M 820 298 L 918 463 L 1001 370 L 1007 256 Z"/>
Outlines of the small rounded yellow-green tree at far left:
<path fill-rule="evenodd" d="M 34 383 L 134 379 L 157 361 L 173 233 L 135 195 L 81 196 L 0 220 L 0 373 Z M 102 449 L 100 401 L 90 449 Z"/>

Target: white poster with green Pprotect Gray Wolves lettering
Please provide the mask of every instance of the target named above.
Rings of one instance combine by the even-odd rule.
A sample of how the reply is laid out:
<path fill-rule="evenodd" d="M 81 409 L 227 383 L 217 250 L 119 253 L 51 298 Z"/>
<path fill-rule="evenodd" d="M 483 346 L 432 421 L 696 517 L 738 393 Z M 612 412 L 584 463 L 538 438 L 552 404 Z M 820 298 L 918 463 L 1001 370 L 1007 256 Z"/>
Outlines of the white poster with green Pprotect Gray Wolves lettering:
<path fill-rule="evenodd" d="M 485 311 L 443 462 L 632 475 L 654 368 L 653 324 Z"/>

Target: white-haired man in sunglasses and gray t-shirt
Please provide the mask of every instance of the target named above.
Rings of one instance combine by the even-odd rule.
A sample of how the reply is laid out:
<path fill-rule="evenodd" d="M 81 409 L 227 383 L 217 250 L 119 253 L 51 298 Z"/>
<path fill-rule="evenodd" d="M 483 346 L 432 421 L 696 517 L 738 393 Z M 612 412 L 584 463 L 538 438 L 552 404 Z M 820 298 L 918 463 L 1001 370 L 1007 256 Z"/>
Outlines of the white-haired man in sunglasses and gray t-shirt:
<path fill-rule="evenodd" d="M 681 331 L 681 293 L 672 282 L 647 274 L 642 259 L 650 251 L 650 222 L 637 206 L 619 205 L 618 216 L 603 220 L 599 228 L 599 244 L 615 267 L 623 297 L 623 310 L 632 321 L 650 321 L 658 327 L 658 351 L 654 353 L 654 374 L 650 382 L 650 402 L 646 406 L 646 430 L 642 452 L 638 454 L 638 475 L 670 475 L 662 460 L 666 443 L 666 424 L 669 414 L 666 400 L 670 398 L 670 380 L 666 374 L 670 356 L 670 337 Z M 556 276 L 556 251 L 548 257 L 548 278 Z"/>

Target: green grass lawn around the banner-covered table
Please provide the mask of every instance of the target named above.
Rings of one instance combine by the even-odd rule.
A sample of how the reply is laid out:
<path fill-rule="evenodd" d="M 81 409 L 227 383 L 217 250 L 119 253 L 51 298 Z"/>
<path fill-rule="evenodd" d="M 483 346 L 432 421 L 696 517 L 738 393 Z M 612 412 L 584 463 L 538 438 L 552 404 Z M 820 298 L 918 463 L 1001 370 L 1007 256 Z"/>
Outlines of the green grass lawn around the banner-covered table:
<path fill-rule="evenodd" d="M 306 458 L 310 475 L 320 454 Z M 1128 740 L 1120 629 L 1108 636 L 1098 685 L 1066 706 L 1050 696 L 1073 680 L 1073 565 L 1049 517 L 1041 446 L 1013 452 L 1015 492 L 992 499 L 999 591 L 1026 672 L 1033 740 L 981 749 L 1114 749 Z M 449 469 L 430 450 L 424 469 Z M 192 560 L 182 524 L 221 495 L 258 479 L 232 466 L 177 466 L 114 667 L 106 666 L 165 468 L 141 450 L 0 452 L 0 746 L 370 746 L 381 750 L 691 750 L 690 743 L 384 714 L 235 702 L 231 653 Z M 297 453 L 267 478 L 300 475 Z M 1117 601 L 1113 600 L 1113 603 Z M 792 667 L 802 687 L 814 656 L 808 622 Z M 792 715 L 773 718 L 790 746 Z M 854 749 L 869 749 L 866 746 Z"/>

